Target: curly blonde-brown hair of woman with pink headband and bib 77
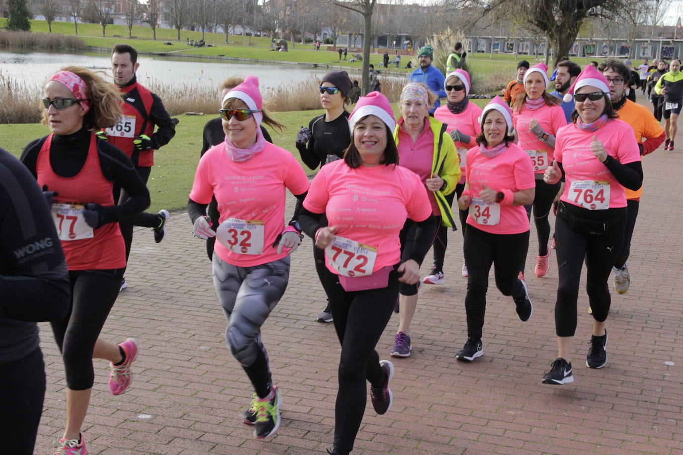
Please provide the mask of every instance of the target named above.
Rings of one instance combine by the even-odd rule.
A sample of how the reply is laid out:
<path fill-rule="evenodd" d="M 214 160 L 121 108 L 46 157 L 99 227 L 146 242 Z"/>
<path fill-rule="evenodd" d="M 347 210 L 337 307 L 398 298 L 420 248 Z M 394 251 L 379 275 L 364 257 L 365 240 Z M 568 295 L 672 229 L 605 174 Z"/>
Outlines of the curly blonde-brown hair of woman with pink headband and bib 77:
<path fill-rule="evenodd" d="M 66 66 L 59 71 L 72 72 L 83 79 L 87 85 L 90 110 L 83 116 L 83 128 L 98 131 L 102 128 L 110 128 L 119 121 L 123 113 L 121 93 L 113 83 L 107 82 L 98 74 L 81 66 Z M 40 123 L 47 125 L 47 109 L 45 108 L 40 115 Z"/>

